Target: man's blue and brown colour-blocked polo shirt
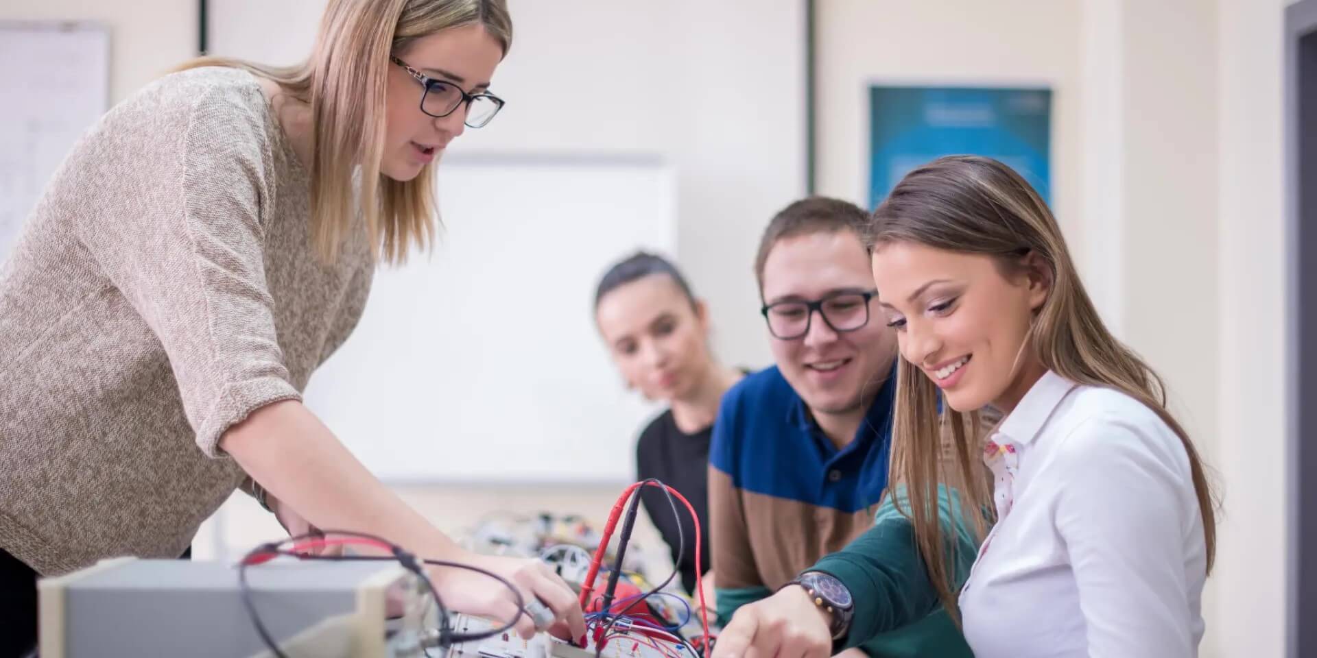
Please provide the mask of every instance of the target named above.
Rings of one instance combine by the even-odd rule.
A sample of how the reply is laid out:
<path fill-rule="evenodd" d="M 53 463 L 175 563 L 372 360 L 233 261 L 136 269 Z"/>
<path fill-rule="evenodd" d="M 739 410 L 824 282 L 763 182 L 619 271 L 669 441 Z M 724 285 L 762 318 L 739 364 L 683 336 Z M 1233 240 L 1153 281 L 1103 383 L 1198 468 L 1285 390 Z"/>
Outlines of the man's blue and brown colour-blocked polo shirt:
<path fill-rule="evenodd" d="M 777 367 L 744 378 L 723 396 L 709 451 L 710 540 L 723 624 L 873 526 L 888 486 L 896 367 L 873 386 L 864 422 L 840 449 Z M 913 541 L 886 550 L 901 553 L 893 563 L 922 565 Z M 944 611 L 923 615 L 861 649 L 874 657 L 971 655 Z"/>

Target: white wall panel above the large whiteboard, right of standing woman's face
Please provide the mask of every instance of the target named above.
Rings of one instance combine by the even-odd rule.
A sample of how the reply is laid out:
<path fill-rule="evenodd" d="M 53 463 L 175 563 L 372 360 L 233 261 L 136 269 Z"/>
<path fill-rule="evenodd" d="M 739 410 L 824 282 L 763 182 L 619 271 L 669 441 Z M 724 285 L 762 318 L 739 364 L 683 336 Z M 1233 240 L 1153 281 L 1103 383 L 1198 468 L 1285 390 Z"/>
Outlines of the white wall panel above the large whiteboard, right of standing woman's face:
<path fill-rule="evenodd" d="M 678 258 L 710 303 L 715 349 L 766 365 L 752 266 L 768 220 L 805 191 L 802 3 L 510 7 L 516 34 L 495 78 L 508 107 L 457 147 L 662 154 L 678 172 Z"/>

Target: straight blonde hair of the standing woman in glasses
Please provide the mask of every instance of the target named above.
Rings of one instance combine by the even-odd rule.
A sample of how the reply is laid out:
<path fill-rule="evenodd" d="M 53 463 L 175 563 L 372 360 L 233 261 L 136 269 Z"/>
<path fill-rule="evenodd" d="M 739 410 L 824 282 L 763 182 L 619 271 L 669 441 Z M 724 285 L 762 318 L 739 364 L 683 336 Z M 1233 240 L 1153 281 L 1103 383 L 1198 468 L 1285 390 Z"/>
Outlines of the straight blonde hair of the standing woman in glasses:
<path fill-rule="evenodd" d="M 176 70 L 202 66 L 244 68 L 279 84 L 311 108 L 311 240 L 335 261 L 357 212 L 371 253 L 406 261 L 435 236 L 435 180 L 427 166 L 408 182 L 379 171 L 385 139 L 385 93 L 390 55 L 449 28 L 483 25 L 507 54 L 512 18 L 504 0 L 329 0 L 315 47 L 306 62 L 266 66 L 203 57 Z"/>

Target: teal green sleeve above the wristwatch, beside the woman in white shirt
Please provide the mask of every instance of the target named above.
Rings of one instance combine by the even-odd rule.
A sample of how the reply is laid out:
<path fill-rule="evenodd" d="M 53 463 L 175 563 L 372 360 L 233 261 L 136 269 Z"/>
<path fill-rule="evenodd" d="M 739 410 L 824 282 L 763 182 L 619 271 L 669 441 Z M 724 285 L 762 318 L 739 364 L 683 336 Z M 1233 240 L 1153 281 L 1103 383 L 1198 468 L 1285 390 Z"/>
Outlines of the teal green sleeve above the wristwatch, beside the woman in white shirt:
<path fill-rule="evenodd" d="M 934 613 L 946 616 L 919 557 L 914 526 L 897 511 L 896 496 L 907 507 L 905 487 L 898 487 L 878 508 L 873 528 L 811 567 L 832 574 L 851 591 L 855 620 L 847 647 L 867 646 L 885 633 L 925 621 Z M 946 487 L 938 487 L 938 508 L 947 547 L 954 553 L 954 584 L 959 587 L 969 576 L 979 542 L 972 521 L 960 513 L 959 497 Z"/>

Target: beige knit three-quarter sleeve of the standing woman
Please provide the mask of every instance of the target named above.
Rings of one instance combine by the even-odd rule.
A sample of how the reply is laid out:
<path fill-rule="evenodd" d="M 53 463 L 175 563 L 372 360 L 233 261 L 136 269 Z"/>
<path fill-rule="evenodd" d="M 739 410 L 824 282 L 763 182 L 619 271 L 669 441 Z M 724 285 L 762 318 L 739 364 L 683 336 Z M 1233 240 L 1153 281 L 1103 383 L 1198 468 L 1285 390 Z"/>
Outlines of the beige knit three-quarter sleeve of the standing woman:
<path fill-rule="evenodd" d="M 190 113 L 182 134 L 80 146 L 94 150 L 80 155 L 99 170 L 86 175 L 115 175 L 97 195 L 104 207 L 78 222 L 78 237 L 159 340 L 196 443 L 211 457 L 230 425 L 299 397 L 265 276 L 262 207 L 274 188 L 263 117 L 252 116 L 253 107 L 261 104 L 203 91 L 173 109 Z M 134 133 L 115 133 L 124 134 Z M 138 153 L 126 161 L 124 149 Z"/>

